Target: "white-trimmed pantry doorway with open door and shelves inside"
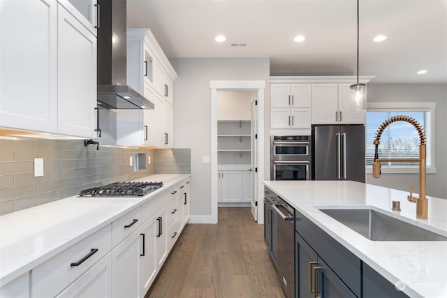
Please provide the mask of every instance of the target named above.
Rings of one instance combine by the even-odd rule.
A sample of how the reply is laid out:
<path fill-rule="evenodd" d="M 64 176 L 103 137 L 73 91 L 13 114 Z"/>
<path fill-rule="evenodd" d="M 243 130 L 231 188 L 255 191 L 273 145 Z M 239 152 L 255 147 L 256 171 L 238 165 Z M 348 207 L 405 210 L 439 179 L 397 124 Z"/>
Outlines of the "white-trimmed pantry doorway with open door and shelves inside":
<path fill-rule="evenodd" d="M 237 187 L 228 188 L 229 191 L 235 191 L 235 189 L 239 191 L 239 186 L 242 188 L 242 185 L 247 190 L 248 186 L 251 198 L 245 203 L 251 207 L 254 220 L 263 223 L 263 208 L 261 208 L 263 200 L 259 198 L 259 194 L 263 194 L 262 181 L 264 177 L 262 144 L 264 142 L 263 103 L 265 81 L 211 81 L 210 89 L 212 223 L 218 221 L 217 210 L 222 181 L 223 183 L 235 183 Z M 237 94 L 237 91 L 241 91 L 241 94 L 251 94 L 249 103 L 244 107 L 247 110 L 245 112 L 237 110 L 234 113 L 230 111 L 228 113 L 230 116 L 222 118 L 222 111 L 219 110 L 219 93 L 235 92 Z M 254 116 L 251 114 L 254 114 Z M 233 133 L 231 129 L 236 129 L 237 133 Z M 260 145 L 257 146 L 256 143 Z M 227 171 L 223 172 L 225 164 L 229 166 L 226 169 Z M 230 167 L 235 167 L 234 165 L 237 165 L 240 169 L 230 169 Z M 226 179 L 222 179 L 222 175 Z M 247 181 L 250 180 L 251 184 L 248 183 L 247 185 Z M 235 197 L 235 193 L 228 193 L 228 198 L 232 198 L 232 196 Z M 259 208 L 258 202 L 261 202 Z"/>

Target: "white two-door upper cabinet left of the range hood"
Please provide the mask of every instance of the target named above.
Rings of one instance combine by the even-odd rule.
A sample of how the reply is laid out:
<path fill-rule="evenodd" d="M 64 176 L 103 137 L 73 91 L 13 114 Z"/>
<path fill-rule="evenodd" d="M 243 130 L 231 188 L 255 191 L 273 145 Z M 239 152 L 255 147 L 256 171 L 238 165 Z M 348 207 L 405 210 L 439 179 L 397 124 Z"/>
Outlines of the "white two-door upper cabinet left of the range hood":
<path fill-rule="evenodd" d="M 0 126 L 92 138 L 96 36 L 59 2 L 0 1 Z"/>

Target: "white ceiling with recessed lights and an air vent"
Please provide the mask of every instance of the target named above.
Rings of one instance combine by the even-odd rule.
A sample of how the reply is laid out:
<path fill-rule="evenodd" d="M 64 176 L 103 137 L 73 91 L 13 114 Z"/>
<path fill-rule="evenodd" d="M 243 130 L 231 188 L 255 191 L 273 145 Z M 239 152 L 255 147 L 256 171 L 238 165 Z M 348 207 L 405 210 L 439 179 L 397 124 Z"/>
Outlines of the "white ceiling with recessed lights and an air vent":
<path fill-rule="evenodd" d="M 168 58 L 268 57 L 271 75 L 356 75 L 356 8 L 356 0 L 127 0 L 127 22 L 151 29 Z M 299 34 L 306 40 L 293 42 Z M 375 43 L 379 34 L 388 38 Z M 359 75 L 447 83 L 447 0 L 360 0 Z"/>

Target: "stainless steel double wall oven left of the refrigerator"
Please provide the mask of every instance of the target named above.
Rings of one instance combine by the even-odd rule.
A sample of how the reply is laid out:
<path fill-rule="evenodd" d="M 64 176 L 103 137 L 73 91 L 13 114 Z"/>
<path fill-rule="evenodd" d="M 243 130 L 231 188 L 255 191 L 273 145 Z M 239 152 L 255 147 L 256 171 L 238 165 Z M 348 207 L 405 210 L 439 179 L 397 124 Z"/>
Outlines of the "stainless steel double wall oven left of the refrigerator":
<path fill-rule="evenodd" d="M 311 154 L 310 135 L 271 135 L 270 179 L 311 179 Z"/>

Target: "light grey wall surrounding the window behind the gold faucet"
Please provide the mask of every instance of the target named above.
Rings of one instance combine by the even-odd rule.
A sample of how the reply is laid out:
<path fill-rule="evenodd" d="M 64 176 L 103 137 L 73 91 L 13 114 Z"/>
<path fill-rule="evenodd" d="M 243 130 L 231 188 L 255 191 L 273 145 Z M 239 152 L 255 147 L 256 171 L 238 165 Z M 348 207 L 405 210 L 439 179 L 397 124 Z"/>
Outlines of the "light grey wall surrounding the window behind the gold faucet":
<path fill-rule="evenodd" d="M 367 100 L 372 102 L 435 102 L 434 163 L 436 173 L 427 174 L 427 195 L 447 199 L 447 84 L 368 84 Z M 409 191 L 418 185 L 418 174 L 382 174 L 367 183 Z"/>

